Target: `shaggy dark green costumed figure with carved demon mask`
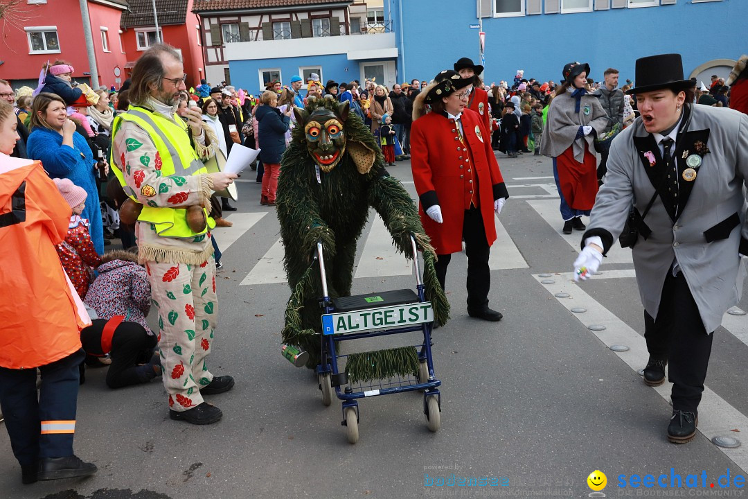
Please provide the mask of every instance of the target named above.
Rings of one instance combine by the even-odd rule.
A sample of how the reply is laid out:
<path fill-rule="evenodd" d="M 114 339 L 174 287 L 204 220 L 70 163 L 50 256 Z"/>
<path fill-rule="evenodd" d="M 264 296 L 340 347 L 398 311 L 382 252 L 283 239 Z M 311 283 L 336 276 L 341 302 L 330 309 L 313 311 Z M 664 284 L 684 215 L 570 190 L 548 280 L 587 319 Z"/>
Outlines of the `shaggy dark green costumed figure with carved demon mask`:
<path fill-rule="evenodd" d="M 423 251 L 423 284 L 440 325 L 449 302 L 437 281 L 436 254 L 423 231 L 417 208 L 399 180 L 384 169 L 384 156 L 369 128 L 349 113 L 348 102 L 310 99 L 295 108 L 296 127 L 281 163 L 276 199 L 284 264 L 292 294 L 286 307 L 283 342 L 309 353 L 307 367 L 319 364 L 322 297 L 316 243 L 322 241 L 328 293 L 350 296 L 356 242 L 372 206 L 384 220 L 398 251 L 412 257 L 410 234 Z"/>

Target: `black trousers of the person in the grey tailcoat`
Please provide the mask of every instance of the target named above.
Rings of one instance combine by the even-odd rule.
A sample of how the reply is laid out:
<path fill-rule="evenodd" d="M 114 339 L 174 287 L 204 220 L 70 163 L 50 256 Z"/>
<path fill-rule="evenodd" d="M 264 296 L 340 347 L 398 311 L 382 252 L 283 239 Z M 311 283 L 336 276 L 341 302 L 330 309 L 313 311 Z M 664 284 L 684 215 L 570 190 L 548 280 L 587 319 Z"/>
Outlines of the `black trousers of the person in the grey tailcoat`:
<path fill-rule="evenodd" d="M 696 412 L 704 391 L 714 332 L 707 334 L 683 272 L 668 271 L 657 319 L 644 312 L 644 338 L 652 358 L 668 361 L 672 408 Z"/>

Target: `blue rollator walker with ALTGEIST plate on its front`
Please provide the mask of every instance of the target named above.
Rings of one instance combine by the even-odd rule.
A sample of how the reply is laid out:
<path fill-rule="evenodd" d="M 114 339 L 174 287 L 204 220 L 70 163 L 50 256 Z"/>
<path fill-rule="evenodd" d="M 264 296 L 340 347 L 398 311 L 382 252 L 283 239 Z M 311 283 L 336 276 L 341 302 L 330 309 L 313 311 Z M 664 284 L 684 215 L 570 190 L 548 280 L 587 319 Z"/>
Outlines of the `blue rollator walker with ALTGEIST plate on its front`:
<path fill-rule="evenodd" d="M 346 436 L 351 444 L 358 441 L 358 399 L 378 395 L 400 394 L 406 391 L 425 391 L 423 412 L 427 426 L 436 432 L 441 426 L 441 381 L 434 375 L 431 352 L 431 332 L 434 320 L 432 305 L 425 298 L 423 281 L 418 265 L 416 242 L 411 235 L 413 266 L 417 293 L 413 290 L 395 290 L 366 295 L 331 299 L 328 295 L 322 242 L 317 242 L 319 272 L 322 277 L 322 362 L 316 368 L 322 403 L 330 405 L 333 388 L 337 398 L 343 400 L 343 421 Z M 423 332 L 423 343 L 415 345 L 418 352 L 417 376 L 395 376 L 364 382 L 349 383 L 346 372 L 338 369 L 338 359 L 346 358 L 337 352 L 336 342 L 390 334 Z M 346 386 L 347 385 L 347 386 Z M 345 388 L 341 388 L 345 386 Z"/>

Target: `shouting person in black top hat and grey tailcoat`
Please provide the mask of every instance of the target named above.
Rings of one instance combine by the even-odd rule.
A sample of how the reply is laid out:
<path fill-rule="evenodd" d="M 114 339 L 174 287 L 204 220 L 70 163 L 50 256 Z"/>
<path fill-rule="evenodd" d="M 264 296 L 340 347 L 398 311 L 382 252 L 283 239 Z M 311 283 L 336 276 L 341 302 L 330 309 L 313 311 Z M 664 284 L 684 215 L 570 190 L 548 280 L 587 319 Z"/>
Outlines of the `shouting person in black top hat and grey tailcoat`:
<path fill-rule="evenodd" d="M 662 385 L 668 365 L 667 438 L 683 444 L 696 435 L 714 331 L 743 290 L 748 116 L 694 105 L 695 82 L 683 78 L 678 54 L 637 59 L 636 73 L 628 93 L 641 115 L 611 144 L 574 278 L 597 271 L 633 203 L 629 227 L 638 235 L 628 239 L 644 305 L 644 382 Z"/>

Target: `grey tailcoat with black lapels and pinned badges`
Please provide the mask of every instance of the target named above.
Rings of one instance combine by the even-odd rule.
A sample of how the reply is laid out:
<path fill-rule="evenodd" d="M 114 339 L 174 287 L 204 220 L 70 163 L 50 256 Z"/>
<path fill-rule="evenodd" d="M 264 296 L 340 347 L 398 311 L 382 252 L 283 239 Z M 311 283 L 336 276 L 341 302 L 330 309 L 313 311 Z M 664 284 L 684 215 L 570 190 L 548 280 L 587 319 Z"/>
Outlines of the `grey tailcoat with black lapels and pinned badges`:
<path fill-rule="evenodd" d="M 657 317 L 666 273 L 678 260 L 708 333 L 722 322 L 729 307 L 740 301 L 744 266 L 738 252 L 748 255 L 748 223 L 744 186 L 748 179 L 748 116 L 725 108 L 705 105 L 684 111 L 686 126 L 675 143 L 678 162 L 678 211 L 663 202 L 667 186 L 665 171 L 654 137 L 641 118 L 621 132 L 611 144 L 607 177 L 595 199 L 589 228 L 583 236 L 601 236 L 604 251 L 623 230 L 632 201 L 642 213 L 658 187 L 657 198 L 644 223 L 652 233 L 640 233 L 633 248 L 637 284 L 645 310 Z M 702 155 L 696 179 L 687 182 L 686 158 L 701 142 L 710 152 Z M 645 153 L 656 159 L 650 165 Z M 650 156 L 650 155 L 648 155 Z M 659 168 L 658 168 L 659 167 Z M 668 184 L 670 185 L 670 184 Z M 669 205 L 666 207 L 666 205 Z"/>

